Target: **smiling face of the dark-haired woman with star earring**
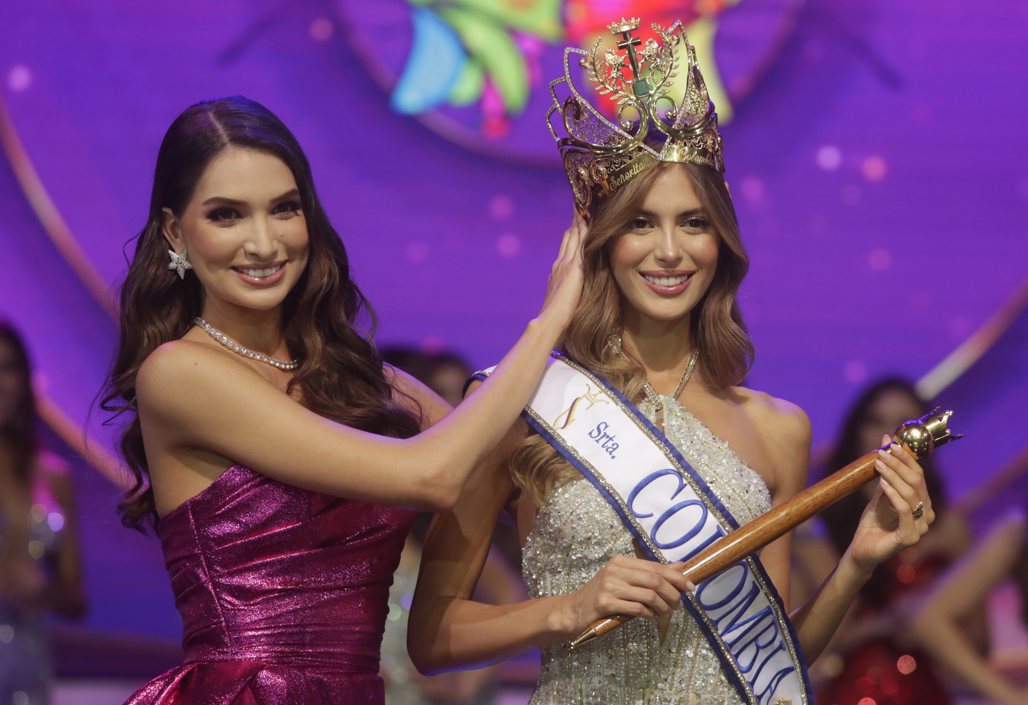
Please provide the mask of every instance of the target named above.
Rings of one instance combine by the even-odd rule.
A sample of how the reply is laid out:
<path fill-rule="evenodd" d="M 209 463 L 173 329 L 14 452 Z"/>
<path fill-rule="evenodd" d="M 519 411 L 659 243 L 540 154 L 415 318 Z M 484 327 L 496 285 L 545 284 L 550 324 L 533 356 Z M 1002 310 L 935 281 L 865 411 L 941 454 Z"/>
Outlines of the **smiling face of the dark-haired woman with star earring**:
<path fill-rule="evenodd" d="M 164 237 L 188 253 L 204 289 L 201 316 L 280 306 L 307 265 L 307 226 L 296 179 L 277 156 L 229 146 L 200 176 Z"/>

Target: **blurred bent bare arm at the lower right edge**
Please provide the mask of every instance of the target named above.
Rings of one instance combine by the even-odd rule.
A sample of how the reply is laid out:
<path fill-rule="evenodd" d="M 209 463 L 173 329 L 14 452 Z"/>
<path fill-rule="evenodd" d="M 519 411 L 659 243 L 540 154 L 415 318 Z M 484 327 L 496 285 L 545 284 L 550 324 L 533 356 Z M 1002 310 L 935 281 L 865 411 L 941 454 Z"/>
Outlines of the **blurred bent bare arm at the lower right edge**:
<path fill-rule="evenodd" d="M 1008 513 L 941 578 L 911 620 L 913 640 L 950 673 L 990 702 L 1028 703 L 1028 684 L 1001 673 L 968 635 L 963 622 L 985 608 L 989 595 L 1013 582 L 1028 627 L 1028 507 Z"/>

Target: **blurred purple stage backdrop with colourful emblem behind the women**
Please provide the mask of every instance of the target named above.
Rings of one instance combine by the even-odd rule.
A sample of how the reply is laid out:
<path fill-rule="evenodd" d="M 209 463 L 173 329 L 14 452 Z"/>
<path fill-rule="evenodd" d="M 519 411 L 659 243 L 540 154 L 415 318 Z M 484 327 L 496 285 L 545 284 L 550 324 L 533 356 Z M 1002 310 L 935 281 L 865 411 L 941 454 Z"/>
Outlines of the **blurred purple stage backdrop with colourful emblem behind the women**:
<path fill-rule="evenodd" d="M 572 213 L 543 117 L 560 47 L 622 15 L 690 25 L 719 102 L 752 260 L 748 383 L 803 406 L 817 444 L 865 382 L 922 379 L 968 435 L 941 455 L 954 494 L 988 513 L 1024 486 L 1023 2 L 12 0 L 0 316 L 34 350 L 53 442 L 95 439 L 75 474 L 87 630 L 179 635 L 156 542 L 116 518 L 94 407 L 175 115 L 234 94 L 277 112 L 378 340 L 484 366 L 537 311 Z"/>

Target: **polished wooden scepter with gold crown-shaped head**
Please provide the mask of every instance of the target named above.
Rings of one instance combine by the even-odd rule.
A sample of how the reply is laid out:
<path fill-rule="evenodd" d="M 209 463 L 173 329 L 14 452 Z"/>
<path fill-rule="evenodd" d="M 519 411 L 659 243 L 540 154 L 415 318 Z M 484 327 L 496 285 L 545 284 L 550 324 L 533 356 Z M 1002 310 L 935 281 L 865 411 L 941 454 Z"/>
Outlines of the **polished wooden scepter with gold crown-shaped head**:
<path fill-rule="evenodd" d="M 924 459 L 939 446 L 963 438 L 961 434 L 950 432 L 948 423 L 952 414 L 952 411 L 941 413 L 937 408 L 921 418 L 905 421 L 896 429 L 895 438 L 917 459 Z M 694 585 L 699 585 L 764 548 L 786 531 L 796 528 L 830 505 L 856 491 L 874 479 L 878 451 L 886 448 L 887 445 L 882 446 L 853 460 L 788 502 L 719 539 L 690 558 L 683 566 L 682 573 Z M 633 618 L 615 615 L 597 620 L 575 637 L 571 642 L 572 648 L 592 641 L 631 619 Z"/>

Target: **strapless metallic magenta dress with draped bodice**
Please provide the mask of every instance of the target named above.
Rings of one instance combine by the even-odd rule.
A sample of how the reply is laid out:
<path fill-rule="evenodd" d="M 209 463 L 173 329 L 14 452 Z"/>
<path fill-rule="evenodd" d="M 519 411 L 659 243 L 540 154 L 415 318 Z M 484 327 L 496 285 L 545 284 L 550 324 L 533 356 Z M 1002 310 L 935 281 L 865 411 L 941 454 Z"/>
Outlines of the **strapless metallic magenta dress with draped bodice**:
<path fill-rule="evenodd" d="M 389 587 L 412 518 L 232 466 L 160 520 L 185 664 L 126 705 L 381 705 Z"/>

